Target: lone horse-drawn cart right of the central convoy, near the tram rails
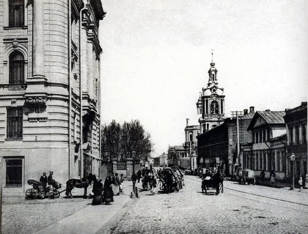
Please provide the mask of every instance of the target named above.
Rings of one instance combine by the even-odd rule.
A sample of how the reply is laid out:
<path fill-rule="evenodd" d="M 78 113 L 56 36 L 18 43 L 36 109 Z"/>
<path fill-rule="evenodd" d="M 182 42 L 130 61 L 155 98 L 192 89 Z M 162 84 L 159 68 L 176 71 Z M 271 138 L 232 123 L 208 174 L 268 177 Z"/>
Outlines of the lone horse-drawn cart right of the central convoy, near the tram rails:
<path fill-rule="evenodd" d="M 221 167 L 215 168 L 213 174 L 205 174 L 205 177 L 202 179 L 201 189 L 202 193 L 210 189 L 216 189 L 216 195 L 224 192 L 223 181 L 225 179 L 224 170 Z"/>

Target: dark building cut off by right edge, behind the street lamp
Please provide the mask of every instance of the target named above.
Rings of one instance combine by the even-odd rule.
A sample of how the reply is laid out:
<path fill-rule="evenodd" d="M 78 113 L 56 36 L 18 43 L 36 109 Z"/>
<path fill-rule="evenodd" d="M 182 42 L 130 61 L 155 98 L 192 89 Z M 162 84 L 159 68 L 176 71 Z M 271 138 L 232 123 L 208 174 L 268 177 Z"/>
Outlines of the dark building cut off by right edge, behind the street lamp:
<path fill-rule="evenodd" d="M 295 154 L 294 176 L 307 174 L 307 102 L 293 109 L 286 109 L 283 117 L 286 123 L 287 135 L 287 174 L 291 176 L 290 155 Z"/>

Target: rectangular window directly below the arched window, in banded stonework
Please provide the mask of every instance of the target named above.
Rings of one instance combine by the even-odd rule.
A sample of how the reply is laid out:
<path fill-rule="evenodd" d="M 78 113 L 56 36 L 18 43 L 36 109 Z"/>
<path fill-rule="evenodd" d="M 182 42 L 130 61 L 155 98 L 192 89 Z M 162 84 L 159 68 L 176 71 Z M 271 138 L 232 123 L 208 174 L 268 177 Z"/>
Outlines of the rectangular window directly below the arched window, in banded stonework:
<path fill-rule="evenodd" d="M 7 108 L 6 138 L 22 139 L 22 107 Z"/>

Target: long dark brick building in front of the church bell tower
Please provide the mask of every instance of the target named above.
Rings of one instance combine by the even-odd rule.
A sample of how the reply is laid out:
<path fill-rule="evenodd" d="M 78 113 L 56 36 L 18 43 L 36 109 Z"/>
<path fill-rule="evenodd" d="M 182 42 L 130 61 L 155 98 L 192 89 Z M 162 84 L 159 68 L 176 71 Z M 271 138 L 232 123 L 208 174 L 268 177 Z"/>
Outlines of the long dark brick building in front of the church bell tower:
<path fill-rule="evenodd" d="M 239 117 L 239 140 L 240 143 L 251 139 L 247 131 L 251 119 L 254 116 L 254 107 L 244 110 L 244 115 Z M 202 168 L 221 166 L 225 174 L 234 172 L 237 162 L 237 126 L 236 118 L 226 118 L 223 124 L 210 129 L 197 136 L 198 156 L 197 166 Z M 242 159 L 241 159 L 242 162 Z"/>

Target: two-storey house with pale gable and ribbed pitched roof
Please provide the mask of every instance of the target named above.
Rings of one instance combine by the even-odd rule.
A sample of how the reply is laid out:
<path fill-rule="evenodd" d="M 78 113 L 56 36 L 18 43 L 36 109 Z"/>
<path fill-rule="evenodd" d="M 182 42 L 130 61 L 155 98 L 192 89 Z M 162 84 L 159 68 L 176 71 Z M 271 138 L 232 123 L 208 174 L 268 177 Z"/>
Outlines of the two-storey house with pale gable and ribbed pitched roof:
<path fill-rule="evenodd" d="M 241 144 L 243 166 L 253 169 L 256 176 L 260 176 L 262 170 L 266 178 L 270 170 L 275 171 L 278 180 L 286 176 L 285 114 L 285 111 L 257 111 L 247 128 L 252 137 Z"/>

